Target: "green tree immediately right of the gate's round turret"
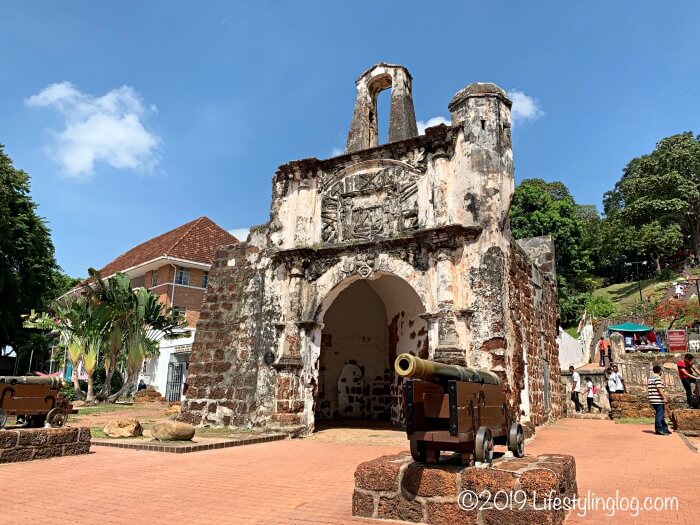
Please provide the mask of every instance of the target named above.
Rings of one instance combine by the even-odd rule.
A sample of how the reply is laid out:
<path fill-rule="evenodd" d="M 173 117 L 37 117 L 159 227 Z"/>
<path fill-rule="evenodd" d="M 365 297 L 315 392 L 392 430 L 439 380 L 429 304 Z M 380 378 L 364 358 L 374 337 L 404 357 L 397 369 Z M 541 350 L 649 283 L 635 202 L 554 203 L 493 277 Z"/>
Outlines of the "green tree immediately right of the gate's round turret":
<path fill-rule="evenodd" d="M 586 277 L 593 265 L 586 244 L 586 221 L 597 220 L 591 212 L 578 206 L 561 182 L 526 179 L 513 195 L 509 216 L 513 236 L 551 235 L 554 241 L 559 314 L 565 324 L 576 320 L 587 298 Z"/>

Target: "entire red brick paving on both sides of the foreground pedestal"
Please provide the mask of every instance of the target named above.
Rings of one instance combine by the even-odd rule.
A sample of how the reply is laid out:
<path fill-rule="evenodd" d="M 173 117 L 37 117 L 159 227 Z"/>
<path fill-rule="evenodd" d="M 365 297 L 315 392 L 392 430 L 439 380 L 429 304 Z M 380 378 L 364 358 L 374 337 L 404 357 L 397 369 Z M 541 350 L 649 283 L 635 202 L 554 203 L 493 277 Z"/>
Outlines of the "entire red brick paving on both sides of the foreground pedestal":
<path fill-rule="evenodd" d="M 582 494 L 681 496 L 680 512 L 618 512 L 611 523 L 697 523 L 700 454 L 678 436 L 645 430 L 564 420 L 540 429 L 527 451 L 575 455 Z M 175 455 L 93 447 L 89 456 L 0 465 L 0 513 L 17 524 L 359 524 L 350 517 L 355 467 L 402 448 L 288 440 Z M 605 520 L 595 513 L 567 523 Z"/>

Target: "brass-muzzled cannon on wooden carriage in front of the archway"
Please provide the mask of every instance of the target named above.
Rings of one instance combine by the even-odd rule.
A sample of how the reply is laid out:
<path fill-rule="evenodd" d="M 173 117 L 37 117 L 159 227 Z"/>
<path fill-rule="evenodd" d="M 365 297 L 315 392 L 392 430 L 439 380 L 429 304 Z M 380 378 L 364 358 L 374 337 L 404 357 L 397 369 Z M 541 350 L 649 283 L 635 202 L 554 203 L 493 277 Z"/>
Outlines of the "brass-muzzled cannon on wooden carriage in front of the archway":
<path fill-rule="evenodd" d="M 411 354 L 398 356 L 394 369 L 407 378 L 406 435 L 415 461 L 437 463 L 444 450 L 459 453 L 465 464 L 490 464 L 494 445 L 525 455 L 522 426 L 493 372 Z"/>

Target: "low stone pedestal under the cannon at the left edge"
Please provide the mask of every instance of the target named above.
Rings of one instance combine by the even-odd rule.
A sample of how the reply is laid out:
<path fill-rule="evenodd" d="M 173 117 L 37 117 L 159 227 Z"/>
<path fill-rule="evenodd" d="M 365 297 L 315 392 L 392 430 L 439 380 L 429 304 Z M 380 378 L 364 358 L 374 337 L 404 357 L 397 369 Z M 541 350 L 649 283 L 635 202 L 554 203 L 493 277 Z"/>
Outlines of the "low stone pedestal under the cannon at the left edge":
<path fill-rule="evenodd" d="M 0 430 L 0 463 L 15 463 L 90 452 L 87 427 Z"/>

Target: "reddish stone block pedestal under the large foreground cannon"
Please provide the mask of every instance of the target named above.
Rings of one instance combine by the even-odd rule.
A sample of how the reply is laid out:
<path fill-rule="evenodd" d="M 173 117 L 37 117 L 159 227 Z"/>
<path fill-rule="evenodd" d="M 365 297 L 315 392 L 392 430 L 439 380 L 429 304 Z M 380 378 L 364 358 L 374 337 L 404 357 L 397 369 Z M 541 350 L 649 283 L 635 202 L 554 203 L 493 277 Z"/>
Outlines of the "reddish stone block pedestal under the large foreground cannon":
<path fill-rule="evenodd" d="M 491 468 L 423 465 L 408 453 L 355 470 L 356 517 L 430 524 L 560 524 L 578 494 L 573 456 L 502 458 Z M 559 500 L 555 499 L 559 498 Z"/>

